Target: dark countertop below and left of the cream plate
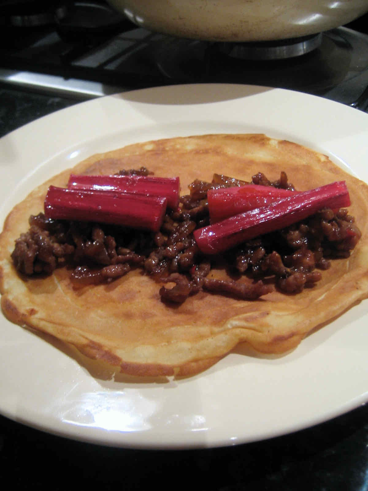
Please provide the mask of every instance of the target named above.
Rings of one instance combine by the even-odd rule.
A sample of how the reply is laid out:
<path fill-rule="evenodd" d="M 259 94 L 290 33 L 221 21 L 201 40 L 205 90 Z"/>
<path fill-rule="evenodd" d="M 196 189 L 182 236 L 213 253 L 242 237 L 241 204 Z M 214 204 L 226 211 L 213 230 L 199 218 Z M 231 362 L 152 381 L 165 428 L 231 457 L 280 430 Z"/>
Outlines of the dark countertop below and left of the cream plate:
<path fill-rule="evenodd" d="M 0 87 L 0 136 L 77 102 Z M 368 406 L 291 435 L 185 451 L 103 447 L 0 416 L 0 464 L 1 481 L 22 490 L 365 491 Z"/>

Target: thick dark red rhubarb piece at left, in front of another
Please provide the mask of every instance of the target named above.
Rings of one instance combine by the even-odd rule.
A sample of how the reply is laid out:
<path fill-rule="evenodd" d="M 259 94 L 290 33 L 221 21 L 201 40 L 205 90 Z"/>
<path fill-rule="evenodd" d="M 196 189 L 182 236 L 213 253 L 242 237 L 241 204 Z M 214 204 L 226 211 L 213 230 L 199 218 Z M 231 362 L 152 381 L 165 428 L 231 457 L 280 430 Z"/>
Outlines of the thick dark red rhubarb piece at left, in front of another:
<path fill-rule="evenodd" d="M 96 221 L 158 231 L 167 199 L 141 194 L 91 191 L 50 186 L 44 209 L 47 218 Z"/>

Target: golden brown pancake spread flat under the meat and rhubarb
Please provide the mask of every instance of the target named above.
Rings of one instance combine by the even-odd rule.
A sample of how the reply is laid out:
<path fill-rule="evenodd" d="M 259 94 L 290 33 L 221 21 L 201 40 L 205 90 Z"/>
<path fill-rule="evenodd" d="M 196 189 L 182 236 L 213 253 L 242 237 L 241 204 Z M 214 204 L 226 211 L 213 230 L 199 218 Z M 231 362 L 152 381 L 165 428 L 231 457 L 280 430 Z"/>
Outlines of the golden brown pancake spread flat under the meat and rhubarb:
<path fill-rule="evenodd" d="M 322 280 L 298 295 L 273 291 L 238 300 L 206 291 L 170 306 L 159 285 L 137 269 L 110 284 L 75 290 L 70 270 L 47 277 L 19 275 L 10 254 L 28 230 L 28 217 L 43 211 L 50 184 L 66 186 L 71 169 L 40 185 L 11 211 L 0 236 L 1 307 L 12 322 L 55 336 L 116 371 L 142 376 L 187 376 L 206 369 L 239 343 L 267 354 L 296 347 L 316 327 L 368 297 L 368 186 L 325 155 L 264 135 L 205 135 L 137 143 L 94 155 L 73 173 L 112 174 L 146 166 L 157 176 L 179 176 L 182 193 L 195 179 L 221 173 L 249 181 L 287 173 L 302 191 L 345 180 L 349 213 L 362 238 L 348 259 L 332 261 Z M 212 272 L 220 275 L 223 272 Z M 11 328 L 11 327 L 9 327 Z"/>

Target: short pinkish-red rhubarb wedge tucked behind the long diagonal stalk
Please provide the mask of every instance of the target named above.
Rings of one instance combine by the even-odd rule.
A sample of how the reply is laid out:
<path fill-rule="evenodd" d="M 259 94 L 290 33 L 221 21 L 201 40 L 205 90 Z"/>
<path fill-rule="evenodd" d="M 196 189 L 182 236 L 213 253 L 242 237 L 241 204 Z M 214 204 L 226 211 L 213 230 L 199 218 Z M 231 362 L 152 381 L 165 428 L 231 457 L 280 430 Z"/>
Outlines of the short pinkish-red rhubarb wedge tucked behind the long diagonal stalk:
<path fill-rule="evenodd" d="M 297 191 L 255 184 L 211 189 L 207 192 L 208 211 L 211 223 L 224 220 L 225 218 L 248 210 L 267 206 L 275 201 L 275 199 L 290 196 L 293 192 L 295 193 Z"/>

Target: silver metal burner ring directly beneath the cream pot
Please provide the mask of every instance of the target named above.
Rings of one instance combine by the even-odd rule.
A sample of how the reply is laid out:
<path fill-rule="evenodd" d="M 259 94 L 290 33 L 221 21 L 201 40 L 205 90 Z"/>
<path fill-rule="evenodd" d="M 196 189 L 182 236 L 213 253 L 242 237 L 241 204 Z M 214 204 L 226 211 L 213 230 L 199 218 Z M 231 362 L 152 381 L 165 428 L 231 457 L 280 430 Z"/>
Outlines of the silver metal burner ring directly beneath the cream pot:
<path fill-rule="evenodd" d="M 279 41 L 255 43 L 222 43 L 220 51 L 233 58 L 245 60 L 277 60 L 305 55 L 318 48 L 322 34 Z"/>

